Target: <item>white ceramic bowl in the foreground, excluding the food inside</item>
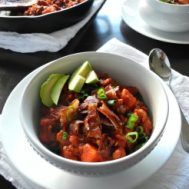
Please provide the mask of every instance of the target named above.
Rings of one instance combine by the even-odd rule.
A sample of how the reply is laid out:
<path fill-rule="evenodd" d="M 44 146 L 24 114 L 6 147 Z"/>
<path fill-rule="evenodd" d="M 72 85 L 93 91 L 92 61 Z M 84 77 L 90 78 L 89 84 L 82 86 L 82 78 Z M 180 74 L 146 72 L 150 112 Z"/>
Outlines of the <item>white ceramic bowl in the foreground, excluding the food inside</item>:
<path fill-rule="evenodd" d="M 51 73 L 72 73 L 89 60 L 95 70 L 108 73 L 123 85 L 136 86 L 153 117 L 153 132 L 147 143 L 136 152 L 112 161 L 87 163 L 58 156 L 48 150 L 38 138 L 39 89 Z M 20 120 L 33 148 L 47 161 L 61 169 L 86 175 L 114 173 L 133 166 L 156 146 L 164 130 L 168 115 L 168 101 L 158 76 L 130 59 L 107 53 L 85 52 L 69 55 L 45 65 L 28 83 L 21 97 Z"/>

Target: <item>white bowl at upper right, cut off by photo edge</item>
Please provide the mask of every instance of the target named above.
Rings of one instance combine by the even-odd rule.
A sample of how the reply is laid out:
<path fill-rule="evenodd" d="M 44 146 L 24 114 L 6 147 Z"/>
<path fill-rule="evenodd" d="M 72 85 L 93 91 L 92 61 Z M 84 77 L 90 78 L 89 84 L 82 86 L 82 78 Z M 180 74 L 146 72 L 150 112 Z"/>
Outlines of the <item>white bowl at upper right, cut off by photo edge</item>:
<path fill-rule="evenodd" d="M 189 31 L 189 4 L 140 0 L 139 14 L 149 26 L 158 30 L 166 32 Z"/>

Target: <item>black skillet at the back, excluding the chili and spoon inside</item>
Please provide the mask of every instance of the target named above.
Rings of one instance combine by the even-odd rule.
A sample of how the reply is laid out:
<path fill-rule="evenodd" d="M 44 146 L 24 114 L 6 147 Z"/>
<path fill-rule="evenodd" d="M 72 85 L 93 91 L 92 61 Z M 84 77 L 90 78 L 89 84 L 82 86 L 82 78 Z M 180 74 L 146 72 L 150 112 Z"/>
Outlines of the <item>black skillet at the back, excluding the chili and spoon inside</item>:
<path fill-rule="evenodd" d="M 71 8 L 40 16 L 0 15 L 0 30 L 19 33 L 50 33 L 81 21 L 87 15 L 93 1 L 87 0 Z"/>

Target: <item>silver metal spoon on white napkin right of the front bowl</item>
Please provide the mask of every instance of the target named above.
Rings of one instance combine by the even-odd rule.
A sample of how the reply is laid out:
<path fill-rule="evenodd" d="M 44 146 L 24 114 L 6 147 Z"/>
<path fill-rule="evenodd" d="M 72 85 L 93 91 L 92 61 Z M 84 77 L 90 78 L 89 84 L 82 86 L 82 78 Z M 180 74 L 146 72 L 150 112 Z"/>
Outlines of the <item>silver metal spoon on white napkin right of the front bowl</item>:
<path fill-rule="evenodd" d="M 150 69 L 153 72 L 155 72 L 158 76 L 160 76 L 172 90 L 170 85 L 172 78 L 171 66 L 165 52 L 158 48 L 152 49 L 149 53 L 149 66 Z M 189 152 L 189 125 L 181 108 L 180 112 L 182 116 L 181 142 L 183 149 L 186 152 Z"/>

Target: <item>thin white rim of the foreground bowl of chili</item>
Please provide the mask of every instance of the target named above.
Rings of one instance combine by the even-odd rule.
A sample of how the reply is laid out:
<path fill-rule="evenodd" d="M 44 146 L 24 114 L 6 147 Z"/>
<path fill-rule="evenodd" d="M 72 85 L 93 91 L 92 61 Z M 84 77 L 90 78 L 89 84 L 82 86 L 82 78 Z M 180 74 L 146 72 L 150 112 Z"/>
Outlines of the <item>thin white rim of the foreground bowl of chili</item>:
<path fill-rule="evenodd" d="M 164 104 L 165 108 L 166 108 L 166 115 L 164 115 L 164 118 L 162 118 L 164 121 L 163 121 L 163 124 L 161 125 L 161 130 L 160 132 L 157 134 L 157 136 L 155 137 L 155 139 L 158 139 L 160 138 L 160 136 L 162 135 L 163 133 L 163 130 L 166 126 L 166 123 L 167 123 L 167 118 L 168 118 L 168 114 L 169 114 L 169 103 L 168 103 L 168 97 L 167 97 L 167 93 L 166 93 L 166 90 L 165 90 L 165 84 L 163 83 L 163 81 L 155 74 L 153 73 L 152 71 L 150 71 L 148 68 L 146 68 L 145 66 L 141 65 L 140 63 L 138 63 L 137 61 L 134 61 L 132 59 L 129 59 L 127 57 L 124 57 L 124 56 L 120 56 L 120 55 L 116 55 L 116 54 L 113 54 L 113 53 L 105 53 L 105 52 L 96 52 L 96 51 L 88 51 L 88 52 L 80 52 L 80 53 L 74 53 L 74 54 L 70 54 L 70 55 L 67 55 L 67 56 L 64 56 L 64 57 L 61 57 L 61 58 L 58 58 L 56 60 L 53 60 L 43 66 L 41 66 L 40 68 L 40 71 L 37 72 L 33 77 L 32 79 L 29 81 L 29 83 L 27 84 L 27 86 L 25 86 L 25 88 L 23 89 L 23 92 L 22 92 L 22 96 L 21 98 L 24 98 L 24 94 L 25 94 L 25 91 L 27 91 L 27 89 L 30 87 L 30 85 L 32 84 L 32 82 L 35 81 L 35 79 L 37 78 L 37 76 L 40 75 L 41 72 L 43 72 L 45 69 L 47 69 L 48 67 L 51 67 L 53 66 L 53 64 L 55 64 L 56 62 L 60 62 L 64 59 L 67 59 L 67 58 L 70 58 L 72 56 L 80 56 L 80 55 L 95 55 L 95 56 L 98 56 L 98 55 L 102 55 L 102 56 L 114 56 L 114 57 L 117 57 L 117 58 L 122 58 L 122 59 L 125 59 L 125 61 L 129 61 L 128 64 L 135 64 L 139 67 L 141 67 L 142 69 L 146 70 L 149 72 L 149 74 L 152 75 L 152 77 L 156 80 L 159 81 L 160 85 L 161 85 L 161 88 L 162 88 L 162 91 L 164 93 L 164 96 L 165 96 L 165 99 L 166 99 L 166 104 Z M 22 100 L 21 102 L 21 106 L 20 106 L 20 110 L 22 109 L 23 105 L 24 105 L 24 102 Z M 64 158 L 60 155 L 57 155 L 55 154 L 54 152 L 50 151 L 47 147 L 45 147 L 38 139 L 38 141 L 35 141 L 35 137 L 32 136 L 31 133 L 28 132 L 27 130 L 27 127 L 26 127 L 26 121 L 24 119 L 24 116 L 22 114 L 23 111 L 20 111 L 20 115 L 19 115 L 19 118 L 20 118 L 20 123 L 21 123 L 21 126 L 26 134 L 26 136 L 29 138 L 30 140 L 30 143 L 32 143 L 32 145 L 34 146 L 34 149 L 40 153 L 43 154 L 43 155 L 47 155 L 51 158 L 54 158 L 56 159 L 58 162 L 65 162 L 67 164 L 70 164 L 70 165 L 74 165 L 74 166 L 82 166 L 82 167 L 101 167 L 101 166 L 111 166 L 113 164 L 117 164 L 117 163 L 122 163 L 126 160 L 129 160 L 129 159 L 132 159 L 133 157 L 137 156 L 138 154 L 142 153 L 144 149 L 148 149 L 150 146 L 152 146 L 156 140 L 148 140 L 141 148 L 139 148 L 138 150 L 136 150 L 135 152 L 129 154 L 128 156 L 125 156 L 125 157 L 122 157 L 122 158 L 119 158 L 119 159 L 116 159 L 116 160 L 110 160 L 110 161 L 104 161 L 104 162 L 81 162 L 81 161 L 76 161 L 76 160 L 71 160 L 71 159 L 67 159 L 67 158 Z M 42 156 L 43 156 L 42 155 Z M 46 159 L 46 157 L 44 157 Z M 50 161 L 47 159 L 47 161 Z M 51 162 L 51 161 L 50 161 Z M 53 163 L 53 162 L 51 162 Z"/>

